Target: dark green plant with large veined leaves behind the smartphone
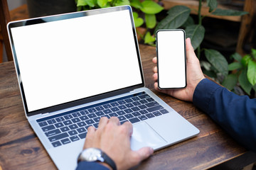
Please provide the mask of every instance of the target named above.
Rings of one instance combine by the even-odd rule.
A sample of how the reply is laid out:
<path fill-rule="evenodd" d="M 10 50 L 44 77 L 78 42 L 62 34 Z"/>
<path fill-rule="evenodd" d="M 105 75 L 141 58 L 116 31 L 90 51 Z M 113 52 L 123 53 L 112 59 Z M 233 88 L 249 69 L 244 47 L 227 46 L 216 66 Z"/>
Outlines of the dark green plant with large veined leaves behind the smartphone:
<path fill-rule="evenodd" d="M 209 7 L 209 13 L 216 16 L 242 16 L 247 12 L 235 11 L 229 9 L 217 8 L 218 2 L 216 0 L 207 0 L 207 6 Z M 205 35 L 205 28 L 202 25 L 203 18 L 201 16 L 202 0 L 198 1 L 198 23 L 193 21 L 190 16 L 191 9 L 186 6 L 174 6 L 169 9 L 168 16 L 160 21 L 156 28 L 159 29 L 175 29 L 184 28 L 186 31 L 186 37 L 191 38 L 193 48 L 197 50 L 197 56 L 201 58 L 201 52 L 204 52 L 206 61 L 201 61 L 201 66 L 206 69 L 204 71 L 210 77 L 216 78 L 217 81 L 223 81 L 228 76 L 228 62 L 223 55 L 217 50 L 213 49 L 201 49 L 200 45 Z M 220 79 L 218 79 L 220 77 Z"/>

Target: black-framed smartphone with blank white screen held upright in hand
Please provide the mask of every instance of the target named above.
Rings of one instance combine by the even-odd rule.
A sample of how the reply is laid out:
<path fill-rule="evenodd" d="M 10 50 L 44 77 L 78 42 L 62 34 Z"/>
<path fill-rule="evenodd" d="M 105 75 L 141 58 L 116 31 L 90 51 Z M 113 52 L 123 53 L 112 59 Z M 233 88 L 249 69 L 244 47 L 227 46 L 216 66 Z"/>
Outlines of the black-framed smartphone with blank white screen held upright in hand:
<path fill-rule="evenodd" d="M 182 29 L 156 31 L 159 89 L 186 87 L 186 42 Z"/>

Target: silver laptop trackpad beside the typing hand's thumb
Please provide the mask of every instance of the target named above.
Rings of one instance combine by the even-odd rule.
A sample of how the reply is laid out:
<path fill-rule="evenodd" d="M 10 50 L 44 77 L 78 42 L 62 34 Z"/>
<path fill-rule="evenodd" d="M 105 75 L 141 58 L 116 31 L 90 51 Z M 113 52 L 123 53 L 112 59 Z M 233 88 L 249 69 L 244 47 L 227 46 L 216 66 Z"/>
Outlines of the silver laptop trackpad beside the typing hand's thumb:
<path fill-rule="evenodd" d="M 158 148 L 166 144 L 166 140 L 158 135 L 146 122 L 133 125 L 133 133 L 131 137 L 132 150 L 138 150 L 142 147 Z"/>

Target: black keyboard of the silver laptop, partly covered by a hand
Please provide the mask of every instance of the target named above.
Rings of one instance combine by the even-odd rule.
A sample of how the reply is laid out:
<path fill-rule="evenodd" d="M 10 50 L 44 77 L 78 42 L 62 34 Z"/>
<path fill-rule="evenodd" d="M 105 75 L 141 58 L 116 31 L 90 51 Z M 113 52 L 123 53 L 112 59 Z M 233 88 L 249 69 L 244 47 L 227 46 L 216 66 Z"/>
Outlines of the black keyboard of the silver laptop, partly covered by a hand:
<path fill-rule="evenodd" d="M 120 123 L 137 123 L 142 120 L 169 113 L 145 92 L 97 103 L 75 111 L 37 120 L 53 147 L 84 139 L 87 128 L 98 127 L 100 118 L 116 116 Z"/>

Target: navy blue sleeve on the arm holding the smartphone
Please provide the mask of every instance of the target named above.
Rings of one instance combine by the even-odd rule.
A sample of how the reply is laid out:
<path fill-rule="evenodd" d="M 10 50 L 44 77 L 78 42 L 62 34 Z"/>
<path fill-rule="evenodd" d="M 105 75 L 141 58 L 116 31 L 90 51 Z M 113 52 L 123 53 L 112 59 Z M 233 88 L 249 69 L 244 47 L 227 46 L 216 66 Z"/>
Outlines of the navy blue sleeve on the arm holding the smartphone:
<path fill-rule="evenodd" d="M 203 79 L 196 86 L 193 104 L 244 147 L 256 151 L 256 98 L 238 96 Z"/>

